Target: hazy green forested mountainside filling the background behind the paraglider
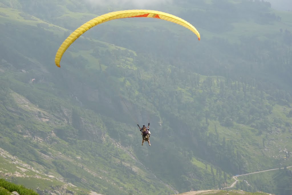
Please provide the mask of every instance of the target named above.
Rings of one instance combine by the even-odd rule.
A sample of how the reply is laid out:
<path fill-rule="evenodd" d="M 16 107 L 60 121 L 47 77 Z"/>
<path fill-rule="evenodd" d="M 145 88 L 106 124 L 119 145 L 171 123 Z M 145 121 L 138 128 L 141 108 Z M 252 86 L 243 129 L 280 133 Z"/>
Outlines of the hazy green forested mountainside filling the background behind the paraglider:
<path fill-rule="evenodd" d="M 0 147 L 78 193 L 217 189 L 232 175 L 292 164 L 290 12 L 264 1 L 152 4 L 192 23 L 201 40 L 166 21 L 113 20 L 79 37 L 58 68 L 55 53 L 77 27 L 135 7 L 0 6 Z M 136 124 L 148 122 L 151 146 L 141 146 Z M 282 181 L 264 180 L 246 190 Z M 269 192 L 285 194 L 288 183 Z"/>

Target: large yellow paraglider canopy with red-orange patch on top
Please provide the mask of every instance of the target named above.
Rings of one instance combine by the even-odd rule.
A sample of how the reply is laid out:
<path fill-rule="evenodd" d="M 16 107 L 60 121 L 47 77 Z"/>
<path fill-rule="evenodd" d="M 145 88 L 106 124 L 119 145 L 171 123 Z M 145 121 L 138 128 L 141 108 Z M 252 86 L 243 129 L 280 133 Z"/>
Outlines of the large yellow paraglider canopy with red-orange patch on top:
<path fill-rule="evenodd" d="M 135 18 L 135 17 L 145 17 L 145 18 L 158 18 L 162 20 L 167 20 L 173 23 L 177 23 L 179 25 L 182 25 L 186 27 L 187 29 L 194 32 L 194 34 L 197 35 L 198 39 L 200 40 L 200 34 L 197 31 L 197 29 L 188 23 L 187 21 L 168 13 L 164 13 L 161 11 L 154 11 L 154 10 L 125 10 L 125 11 L 115 11 L 111 13 L 107 13 L 101 16 L 98 16 L 96 18 L 93 18 L 92 20 L 89 20 L 85 24 L 81 25 L 79 28 L 77 28 L 74 32 L 72 32 L 69 37 L 62 43 L 60 48 L 58 49 L 55 57 L 55 64 L 60 67 L 60 61 L 65 53 L 65 51 L 68 49 L 68 47 L 78 38 L 81 34 L 86 32 L 87 30 L 91 29 L 92 27 L 107 22 L 109 20 L 119 19 L 119 18 Z"/>

